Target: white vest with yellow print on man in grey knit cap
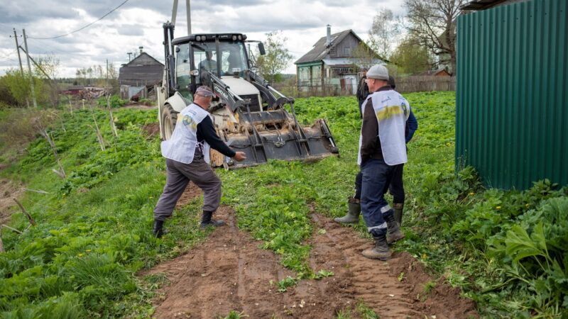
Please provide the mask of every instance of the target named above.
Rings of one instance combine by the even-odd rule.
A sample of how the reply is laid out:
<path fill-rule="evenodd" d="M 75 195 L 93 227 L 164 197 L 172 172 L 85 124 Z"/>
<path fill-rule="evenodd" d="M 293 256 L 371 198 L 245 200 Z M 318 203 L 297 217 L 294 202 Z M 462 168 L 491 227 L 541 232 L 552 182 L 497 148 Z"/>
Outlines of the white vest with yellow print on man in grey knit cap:
<path fill-rule="evenodd" d="M 378 122 L 378 138 L 381 141 L 383 159 L 388 165 L 403 164 L 406 157 L 405 124 L 410 116 L 410 104 L 397 91 L 378 91 L 369 94 L 361 105 L 363 114 L 368 99 L 372 99 Z M 361 127 L 361 132 L 363 128 Z M 361 164 L 362 133 L 359 135 L 357 164 Z"/>

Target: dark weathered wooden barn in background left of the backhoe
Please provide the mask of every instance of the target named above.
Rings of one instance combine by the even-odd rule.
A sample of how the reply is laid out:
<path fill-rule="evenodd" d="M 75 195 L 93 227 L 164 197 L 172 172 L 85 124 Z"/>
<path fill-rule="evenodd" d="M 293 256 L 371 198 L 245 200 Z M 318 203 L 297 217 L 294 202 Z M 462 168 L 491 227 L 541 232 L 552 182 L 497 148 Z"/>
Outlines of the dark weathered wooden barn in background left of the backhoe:
<path fill-rule="evenodd" d="M 164 65 L 160 61 L 142 52 L 120 68 L 119 84 L 133 86 L 155 84 L 162 80 L 163 72 Z"/>

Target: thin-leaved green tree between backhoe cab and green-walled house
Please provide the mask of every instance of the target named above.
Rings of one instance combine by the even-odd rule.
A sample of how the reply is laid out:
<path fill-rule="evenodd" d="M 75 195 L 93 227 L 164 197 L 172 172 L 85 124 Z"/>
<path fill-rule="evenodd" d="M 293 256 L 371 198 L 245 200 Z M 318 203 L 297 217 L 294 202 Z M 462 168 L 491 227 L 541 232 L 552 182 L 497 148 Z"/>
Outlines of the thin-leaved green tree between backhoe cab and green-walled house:
<path fill-rule="evenodd" d="M 256 67 L 260 69 L 261 75 L 274 83 L 281 80 L 280 73 L 290 64 L 293 56 L 284 43 L 288 40 L 282 35 L 281 31 L 275 30 L 266 33 L 265 50 L 266 55 L 259 55 L 256 59 Z"/>

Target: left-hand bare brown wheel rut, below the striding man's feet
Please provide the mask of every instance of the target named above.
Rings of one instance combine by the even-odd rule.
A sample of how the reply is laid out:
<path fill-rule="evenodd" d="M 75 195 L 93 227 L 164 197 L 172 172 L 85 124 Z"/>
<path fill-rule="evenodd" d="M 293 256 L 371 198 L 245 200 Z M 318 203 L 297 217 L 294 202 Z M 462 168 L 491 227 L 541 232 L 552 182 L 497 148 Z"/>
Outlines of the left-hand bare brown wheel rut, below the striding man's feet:
<path fill-rule="evenodd" d="M 219 318 L 231 310 L 244 311 L 249 318 L 332 318 L 330 296 L 341 293 L 326 289 L 327 296 L 314 291 L 314 281 L 301 281 L 288 292 L 278 293 L 275 285 L 295 276 L 271 251 L 258 248 L 260 242 L 236 228 L 234 212 L 221 207 L 216 218 L 228 223 L 214 230 L 206 242 L 147 274 L 165 273 L 170 284 L 158 291 L 155 318 Z M 323 300 L 323 301 L 322 301 Z"/>

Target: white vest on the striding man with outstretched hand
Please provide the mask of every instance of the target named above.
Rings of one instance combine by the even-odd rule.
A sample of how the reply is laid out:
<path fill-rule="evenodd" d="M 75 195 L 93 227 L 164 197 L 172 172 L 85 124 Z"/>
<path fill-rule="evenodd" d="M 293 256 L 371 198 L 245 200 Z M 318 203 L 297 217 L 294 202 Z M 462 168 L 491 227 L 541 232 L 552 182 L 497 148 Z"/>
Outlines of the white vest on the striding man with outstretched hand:
<path fill-rule="evenodd" d="M 178 114 L 172 137 L 162 142 L 161 150 L 165 158 L 190 164 L 195 155 L 195 149 L 202 147 L 205 162 L 209 163 L 209 144 L 197 142 L 197 124 L 210 116 L 209 112 L 195 103 L 191 103 Z"/>

